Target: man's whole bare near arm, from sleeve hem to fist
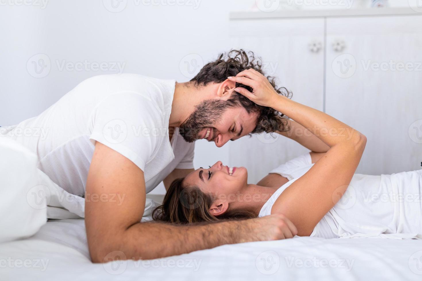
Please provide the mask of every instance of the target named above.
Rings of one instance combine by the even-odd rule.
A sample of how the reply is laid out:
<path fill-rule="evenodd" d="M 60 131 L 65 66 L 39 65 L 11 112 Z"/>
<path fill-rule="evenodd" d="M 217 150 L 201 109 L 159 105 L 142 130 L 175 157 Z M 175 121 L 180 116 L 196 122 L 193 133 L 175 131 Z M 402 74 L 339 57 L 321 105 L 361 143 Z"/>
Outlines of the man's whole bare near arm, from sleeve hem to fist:
<path fill-rule="evenodd" d="M 97 142 L 85 198 L 85 225 L 93 262 L 108 261 L 105 258 L 113 251 L 123 252 L 127 259 L 154 259 L 222 244 L 291 238 L 297 233 L 280 214 L 191 226 L 141 223 L 144 207 L 143 171 Z"/>

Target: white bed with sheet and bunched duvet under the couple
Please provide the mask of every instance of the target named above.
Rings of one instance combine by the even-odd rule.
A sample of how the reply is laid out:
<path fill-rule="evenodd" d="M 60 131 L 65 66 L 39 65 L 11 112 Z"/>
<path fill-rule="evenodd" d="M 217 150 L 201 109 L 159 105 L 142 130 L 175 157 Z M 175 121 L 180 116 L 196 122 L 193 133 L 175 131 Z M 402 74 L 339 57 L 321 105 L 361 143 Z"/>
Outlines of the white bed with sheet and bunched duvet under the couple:
<path fill-rule="evenodd" d="M 16 143 L 0 138 L 0 155 L 0 280 L 422 280 L 422 240 L 397 237 L 295 237 L 93 264 L 84 199 L 65 194 Z M 144 214 L 160 200 L 147 197 Z"/>

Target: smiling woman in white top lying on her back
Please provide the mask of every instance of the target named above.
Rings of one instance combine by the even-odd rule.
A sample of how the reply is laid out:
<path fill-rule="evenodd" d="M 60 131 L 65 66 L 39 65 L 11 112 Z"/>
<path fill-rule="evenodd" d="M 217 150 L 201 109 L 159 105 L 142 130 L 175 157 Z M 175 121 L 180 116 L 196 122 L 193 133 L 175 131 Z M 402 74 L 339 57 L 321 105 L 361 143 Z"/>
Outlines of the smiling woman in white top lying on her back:
<path fill-rule="evenodd" d="M 172 183 L 163 205 L 154 211 L 154 219 L 188 223 L 281 213 L 297 227 L 299 236 L 422 234 L 422 170 L 354 175 L 365 148 L 364 135 L 323 112 L 278 95 L 254 70 L 229 79 L 251 86 L 252 93 L 245 88 L 235 91 L 283 112 L 316 134 L 329 150 L 295 158 L 257 185 L 247 183 L 244 167 L 229 168 L 217 162 L 209 169 L 197 169 Z"/>

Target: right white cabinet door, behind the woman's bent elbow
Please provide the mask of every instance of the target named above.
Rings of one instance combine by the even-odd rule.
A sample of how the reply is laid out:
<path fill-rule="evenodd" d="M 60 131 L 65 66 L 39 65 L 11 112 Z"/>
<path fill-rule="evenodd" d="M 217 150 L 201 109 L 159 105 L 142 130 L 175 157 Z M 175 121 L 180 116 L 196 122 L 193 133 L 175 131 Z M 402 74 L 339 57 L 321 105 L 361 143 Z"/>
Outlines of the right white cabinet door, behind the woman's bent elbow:
<path fill-rule="evenodd" d="M 358 173 L 421 169 L 421 26 L 420 15 L 327 19 L 326 112 L 367 136 Z"/>

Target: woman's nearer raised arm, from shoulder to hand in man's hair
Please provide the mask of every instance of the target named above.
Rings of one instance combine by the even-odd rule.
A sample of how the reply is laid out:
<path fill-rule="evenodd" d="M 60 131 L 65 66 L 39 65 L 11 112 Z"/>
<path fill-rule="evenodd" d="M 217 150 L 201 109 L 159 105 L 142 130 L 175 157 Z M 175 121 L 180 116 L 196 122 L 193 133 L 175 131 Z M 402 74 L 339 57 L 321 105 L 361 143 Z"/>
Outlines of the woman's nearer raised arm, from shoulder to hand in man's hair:
<path fill-rule="evenodd" d="M 277 94 L 255 70 L 245 70 L 229 79 L 253 88 L 253 92 L 245 88 L 235 91 L 257 104 L 283 112 L 330 147 L 306 174 L 284 190 L 271 210 L 272 214 L 281 213 L 289 218 L 298 228 L 299 236 L 310 235 L 349 186 L 365 149 L 366 137 L 324 112 Z"/>

